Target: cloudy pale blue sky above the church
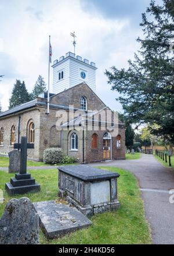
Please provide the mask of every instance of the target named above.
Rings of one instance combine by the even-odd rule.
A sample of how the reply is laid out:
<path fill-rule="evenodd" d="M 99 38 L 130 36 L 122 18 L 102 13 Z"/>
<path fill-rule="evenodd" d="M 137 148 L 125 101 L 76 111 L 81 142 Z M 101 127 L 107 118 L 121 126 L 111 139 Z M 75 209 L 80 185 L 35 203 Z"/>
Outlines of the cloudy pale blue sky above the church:
<path fill-rule="evenodd" d="M 161 0 L 156 2 L 161 3 Z M 96 63 L 97 95 L 121 111 L 105 69 L 127 67 L 139 49 L 141 14 L 150 0 L 0 0 L 0 101 L 5 111 L 16 79 L 28 91 L 39 74 L 48 80 L 48 38 L 53 60 L 73 51 L 70 32 L 77 34 L 77 54 Z M 51 71 L 52 72 L 52 71 Z M 52 74 L 51 81 L 52 84 Z"/>

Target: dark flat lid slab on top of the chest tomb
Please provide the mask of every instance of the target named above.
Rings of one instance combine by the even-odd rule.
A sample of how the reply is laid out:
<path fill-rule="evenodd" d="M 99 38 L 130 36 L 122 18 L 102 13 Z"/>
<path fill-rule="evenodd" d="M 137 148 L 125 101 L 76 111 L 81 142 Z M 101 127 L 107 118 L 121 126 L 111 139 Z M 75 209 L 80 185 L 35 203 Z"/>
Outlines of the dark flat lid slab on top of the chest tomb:
<path fill-rule="evenodd" d="M 68 175 L 77 177 L 84 182 L 106 180 L 119 177 L 119 173 L 108 172 L 108 170 L 97 169 L 88 165 L 66 165 L 59 166 L 57 169 L 61 172 L 67 173 Z"/>

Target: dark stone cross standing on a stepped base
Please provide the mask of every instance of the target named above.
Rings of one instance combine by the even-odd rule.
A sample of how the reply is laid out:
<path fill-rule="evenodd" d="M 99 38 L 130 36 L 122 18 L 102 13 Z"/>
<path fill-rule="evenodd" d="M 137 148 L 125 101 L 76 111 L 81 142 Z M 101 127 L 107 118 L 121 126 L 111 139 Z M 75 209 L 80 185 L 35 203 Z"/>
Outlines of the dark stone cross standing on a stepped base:
<path fill-rule="evenodd" d="M 10 183 L 5 183 L 9 195 L 24 194 L 30 191 L 39 191 L 40 185 L 35 182 L 31 174 L 27 173 L 27 148 L 34 148 L 34 144 L 27 143 L 27 137 L 21 137 L 21 143 L 15 143 L 14 148 L 20 149 L 20 170 Z"/>

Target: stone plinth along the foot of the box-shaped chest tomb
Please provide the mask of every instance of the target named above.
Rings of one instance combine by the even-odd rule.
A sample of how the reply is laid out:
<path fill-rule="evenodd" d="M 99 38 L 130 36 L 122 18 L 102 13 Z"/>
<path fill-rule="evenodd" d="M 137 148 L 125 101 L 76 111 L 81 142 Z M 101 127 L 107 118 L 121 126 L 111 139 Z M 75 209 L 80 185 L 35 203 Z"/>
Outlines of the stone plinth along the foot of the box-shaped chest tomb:
<path fill-rule="evenodd" d="M 59 197 L 63 197 L 64 191 L 59 190 Z M 120 203 L 118 200 L 114 200 L 113 202 L 104 202 L 102 204 L 95 204 L 95 205 L 85 205 L 84 207 L 78 204 L 77 201 L 73 200 L 70 196 L 66 196 L 65 200 L 74 205 L 82 214 L 85 216 L 93 216 L 95 214 L 103 214 L 103 212 L 110 212 L 115 211 L 116 209 L 120 208 Z"/>

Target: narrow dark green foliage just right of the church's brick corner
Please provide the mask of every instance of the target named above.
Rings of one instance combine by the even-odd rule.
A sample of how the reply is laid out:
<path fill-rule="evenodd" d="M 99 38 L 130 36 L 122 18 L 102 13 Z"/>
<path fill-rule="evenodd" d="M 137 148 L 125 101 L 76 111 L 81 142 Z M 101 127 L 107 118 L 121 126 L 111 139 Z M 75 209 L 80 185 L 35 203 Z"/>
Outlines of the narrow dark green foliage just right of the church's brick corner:
<path fill-rule="evenodd" d="M 129 120 L 126 119 L 122 113 L 118 113 L 118 118 L 119 120 L 125 123 L 125 145 L 127 148 L 131 149 L 133 145 L 133 138 L 135 136 L 135 132 L 132 129 Z"/>

